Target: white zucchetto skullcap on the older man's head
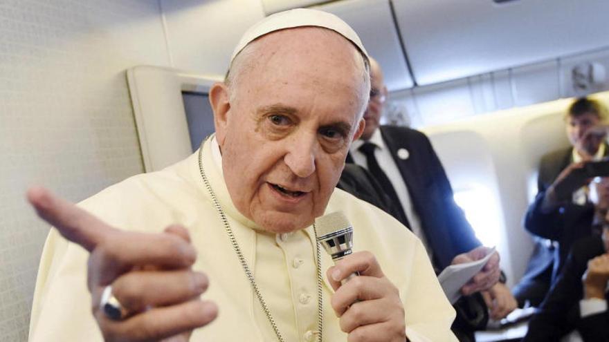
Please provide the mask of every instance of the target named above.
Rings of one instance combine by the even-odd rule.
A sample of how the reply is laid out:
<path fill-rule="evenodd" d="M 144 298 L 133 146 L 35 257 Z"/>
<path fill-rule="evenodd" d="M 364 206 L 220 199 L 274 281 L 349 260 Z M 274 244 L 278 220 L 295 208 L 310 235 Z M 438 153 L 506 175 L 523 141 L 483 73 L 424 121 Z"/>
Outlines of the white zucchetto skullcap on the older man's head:
<path fill-rule="evenodd" d="M 302 26 L 317 26 L 320 28 L 328 28 L 333 30 L 343 37 L 349 39 L 361 52 L 368 57 L 368 53 L 364 48 L 357 33 L 343 19 L 336 17 L 328 12 L 320 10 L 311 10 L 308 8 L 296 8 L 270 15 L 255 23 L 251 28 L 243 34 L 239 44 L 235 47 L 233 55 L 230 56 L 230 64 L 233 64 L 233 59 L 253 40 L 270 32 L 284 30 L 286 28 L 298 28 Z"/>

